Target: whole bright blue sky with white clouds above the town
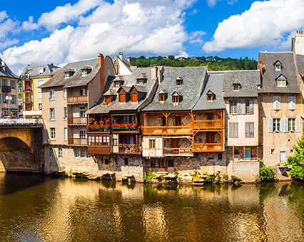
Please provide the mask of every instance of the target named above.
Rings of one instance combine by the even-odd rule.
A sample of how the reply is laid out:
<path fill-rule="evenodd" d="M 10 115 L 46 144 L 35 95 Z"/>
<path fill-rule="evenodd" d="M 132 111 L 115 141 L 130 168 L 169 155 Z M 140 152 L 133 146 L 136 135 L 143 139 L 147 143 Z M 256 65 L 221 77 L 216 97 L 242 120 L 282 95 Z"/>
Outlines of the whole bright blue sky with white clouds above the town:
<path fill-rule="evenodd" d="M 26 65 L 104 56 L 257 59 L 290 51 L 304 0 L 14 0 L 0 5 L 0 56 Z"/>

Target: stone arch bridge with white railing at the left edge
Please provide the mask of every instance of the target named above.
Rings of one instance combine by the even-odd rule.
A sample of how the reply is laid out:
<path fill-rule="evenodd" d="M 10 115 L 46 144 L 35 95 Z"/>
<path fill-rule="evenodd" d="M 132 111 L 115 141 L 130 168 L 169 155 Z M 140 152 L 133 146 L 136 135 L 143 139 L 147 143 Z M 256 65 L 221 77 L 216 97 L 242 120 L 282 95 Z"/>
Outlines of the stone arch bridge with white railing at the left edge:
<path fill-rule="evenodd" d="M 41 119 L 0 118 L 0 172 L 44 170 Z"/>

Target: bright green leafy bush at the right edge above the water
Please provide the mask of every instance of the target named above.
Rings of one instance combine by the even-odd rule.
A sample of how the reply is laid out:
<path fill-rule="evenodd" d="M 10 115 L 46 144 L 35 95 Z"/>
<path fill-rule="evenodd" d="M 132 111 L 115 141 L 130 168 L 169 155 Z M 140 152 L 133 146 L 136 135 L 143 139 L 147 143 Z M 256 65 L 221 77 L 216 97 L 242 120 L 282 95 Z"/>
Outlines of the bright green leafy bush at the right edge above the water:
<path fill-rule="evenodd" d="M 293 146 L 293 155 L 288 157 L 288 164 L 292 166 L 291 177 L 304 180 L 304 137 L 300 137 L 297 144 Z"/>

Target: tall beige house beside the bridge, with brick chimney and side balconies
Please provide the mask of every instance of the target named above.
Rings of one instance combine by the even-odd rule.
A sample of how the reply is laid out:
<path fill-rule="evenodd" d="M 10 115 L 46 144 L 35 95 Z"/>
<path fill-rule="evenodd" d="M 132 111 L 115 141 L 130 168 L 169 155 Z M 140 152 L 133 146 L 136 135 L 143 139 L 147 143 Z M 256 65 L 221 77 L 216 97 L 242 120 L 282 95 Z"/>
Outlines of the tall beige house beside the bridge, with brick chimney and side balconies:
<path fill-rule="evenodd" d="M 86 150 L 86 111 L 98 103 L 111 75 L 115 75 L 111 58 L 100 54 L 68 63 L 41 85 L 46 172 L 98 172 Z"/>

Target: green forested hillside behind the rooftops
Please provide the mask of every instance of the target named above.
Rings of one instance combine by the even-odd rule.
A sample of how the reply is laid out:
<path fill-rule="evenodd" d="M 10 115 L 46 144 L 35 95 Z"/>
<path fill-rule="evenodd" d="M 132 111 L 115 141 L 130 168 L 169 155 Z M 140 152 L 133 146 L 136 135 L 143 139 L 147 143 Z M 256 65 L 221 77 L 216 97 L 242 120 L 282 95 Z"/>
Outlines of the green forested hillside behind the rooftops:
<path fill-rule="evenodd" d="M 198 56 L 188 58 L 175 58 L 174 56 L 162 57 L 153 56 L 146 58 L 140 56 L 138 58 L 131 57 L 131 64 L 137 67 L 148 67 L 150 65 L 164 65 L 175 67 L 186 66 L 207 66 L 208 70 L 255 70 L 257 69 L 257 61 L 246 58 L 219 58 L 218 56 Z"/>

